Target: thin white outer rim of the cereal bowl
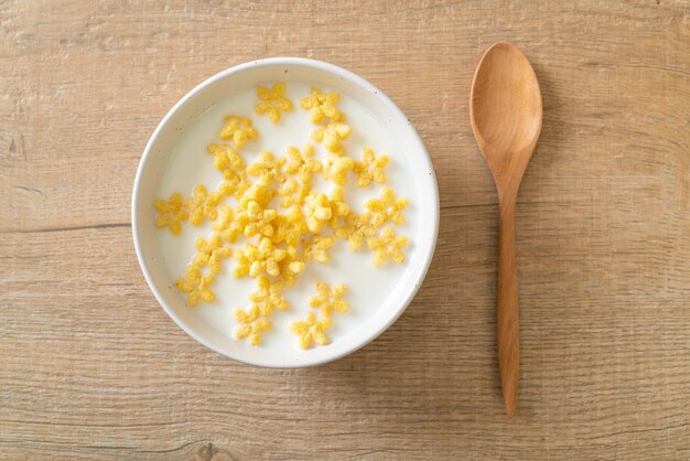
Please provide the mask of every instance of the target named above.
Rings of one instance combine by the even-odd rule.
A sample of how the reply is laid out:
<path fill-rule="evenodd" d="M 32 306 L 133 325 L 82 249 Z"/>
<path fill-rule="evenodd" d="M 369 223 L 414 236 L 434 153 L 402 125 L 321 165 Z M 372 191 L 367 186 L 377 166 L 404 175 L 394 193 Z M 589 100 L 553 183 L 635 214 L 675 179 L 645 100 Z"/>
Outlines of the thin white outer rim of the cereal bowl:
<path fill-rule="evenodd" d="M 267 368 L 305 368 L 305 367 L 322 365 L 322 364 L 336 361 L 338 358 L 342 358 L 346 355 L 349 355 L 360 350 L 362 347 L 366 346 L 371 341 L 380 336 L 386 330 L 388 330 L 390 325 L 392 325 L 410 305 L 410 303 L 417 296 L 417 292 L 419 291 L 423 280 L 427 277 L 427 272 L 429 271 L 429 267 L 431 266 L 431 261 L 433 260 L 433 256 L 435 253 L 438 235 L 439 235 L 439 221 L 440 221 L 440 214 L 441 214 L 440 202 L 439 202 L 439 185 L 436 181 L 435 171 L 433 169 L 433 163 L 431 161 L 431 157 L 429 156 L 429 151 L 427 150 L 421 137 L 417 132 L 417 129 L 414 129 L 414 127 L 408 119 L 408 128 L 410 129 L 410 135 L 414 138 L 414 140 L 421 147 L 421 151 L 419 152 L 420 161 L 424 163 L 425 169 L 430 172 L 430 176 L 432 179 L 432 184 L 433 184 L 433 186 L 430 187 L 430 191 L 429 191 L 431 193 L 431 196 L 427 197 L 429 201 L 428 202 L 429 204 L 435 205 L 431 210 L 432 215 L 433 215 L 433 222 L 431 223 L 432 224 L 431 242 L 429 246 L 429 251 L 423 259 L 423 267 L 421 271 L 418 272 L 418 278 L 414 280 L 414 285 L 412 289 L 408 292 L 405 299 L 400 301 L 398 308 L 395 309 L 391 312 L 391 314 L 386 319 L 386 322 L 381 322 L 379 325 L 377 325 L 374 329 L 374 332 L 369 334 L 368 336 L 366 336 L 364 340 L 353 342 L 352 346 L 345 347 L 343 351 L 336 354 L 327 355 L 324 357 L 306 358 L 299 363 L 285 362 L 281 364 L 276 364 L 276 363 L 265 363 L 261 361 L 255 361 L 251 358 L 247 360 L 246 357 L 242 357 L 241 355 L 228 354 L 227 351 L 219 350 L 218 347 L 216 347 L 215 344 L 207 341 L 203 335 L 197 334 L 190 325 L 187 325 L 187 323 L 184 320 L 177 317 L 177 314 L 173 311 L 173 309 L 170 305 L 168 305 L 163 296 L 157 288 L 155 283 L 153 283 L 153 278 L 151 274 L 149 272 L 149 268 L 147 266 L 147 261 L 143 256 L 141 235 L 139 232 L 139 218 L 137 216 L 137 202 L 138 202 L 139 192 L 141 189 L 144 167 L 148 162 L 149 157 L 151 156 L 151 151 L 152 151 L 154 143 L 158 141 L 158 138 L 161 135 L 161 131 L 170 122 L 171 118 L 177 112 L 177 110 L 180 110 L 180 108 L 184 106 L 190 99 L 192 99 L 200 92 L 213 85 L 214 83 L 225 79 L 231 76 L 233 74 L 239 73 L 246 68 L 258 67 L 258 66 L 273 66 L 273 65 L 301 65 L 301 66 L 314 67 L 324 72 L 334 74 L 344 79 L 353 81 L 354 84 L 363 87 L 368 93 L 374 94 L 376 97 L 381 98 L 382 101 L 387 104 L 388 106 L 390 106 L 390 108 L 393 111 L 396 111 L 398 116 L 401 116 L 405 119 L 408 119 L 408 117 L 405 115 L 405 112 L 402 112 L 402 110 L 398 107 L 398 105 L 395 104 L 392 99 L 388 97 L 388 95 L 386 95 L 381 89 L 376 87 L 374 84 L 369 83 L 367 79 L 355 74 L 354 72 L 347 71 L 343 67 L 339 67 L 337 65 L 326 63 L 323 61 L 316 61 L 316 60 L 311 60 L 311 58 L 305 58 L 305 57 L 277 56 L 277 57 L 266 57 L 266 58 L 260 58 L 256 61 L 250 61 L 244 64 L 238 64 L 233 67 L 226 68 L 225 71 L 222 71 L 215 75 L 212 75 L 211 77 L 206 78 L 205 81 L 196 85 L 194 88 L 192 88 L 177 103 L 175 103 L 175 105 L 168 111 L 168 114 L 165 114 L 165 116 L 161 119 L 161 121 L 158 124 L 158 126 L 153 130 L 153 133 L 149 138 L 149 141 L 147 142 L 147 146 L 143 150 L 143 153 L 139 161 L 139 165 L 137 167 L 137 174 L 134 176 L 134 184 L 132 189 L 132 199 L 131 199 L 131 227 L 132 227 L 132 237 L 134 240 L 134 250 L 137 253 L 137 260 L 139 261 L 139 267 L 141 268 L 141 271 L 144 276 L 147 285 L 149 286 L 149 289 L 153 292 L 153 296 L 157 299 L 158 303 L 163 308 L 163 310 L 168 313 L 168 315 L 186 334 L 188 334 L 198 343 L 203 344 L 209 350 L 239 363 L 244 363 L 247 365 L 261 366 L 261 367 L 267 367 Z"/>

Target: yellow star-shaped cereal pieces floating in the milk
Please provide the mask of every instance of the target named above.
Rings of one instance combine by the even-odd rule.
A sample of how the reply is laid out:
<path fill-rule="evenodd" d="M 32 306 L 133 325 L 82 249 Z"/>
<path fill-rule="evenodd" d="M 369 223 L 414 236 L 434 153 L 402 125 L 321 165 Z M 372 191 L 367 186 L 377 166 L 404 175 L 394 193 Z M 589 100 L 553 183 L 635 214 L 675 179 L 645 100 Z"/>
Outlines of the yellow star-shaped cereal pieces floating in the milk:
<path fill-rule="evenodd" d="M 293 111 L 284 83 L 276 83 L 271 88 L 260 86 L 257 96 L 257 115 L 267 116 L 273 124 Z M 155 226 L 166 227 L 175 235 L 182 232 L 183 223 L 212 223 L 213 234 L 196 239 L 196 255 L 175 283 L 190 305 L 215 300 L 212 287 L 228 259 L 235 261 L 235 277 L 256 280 L 250 305 L 234 312 L 234 335 L 238 340 L 260 344 L 261 334 L 271 329 L 270 317 L 288 309 L 283 290 L 294 285 L 308 264 L 328 264 L 336 239 L 347 240 L 353 251 L 366 243 L 376 266 L 405 262 L 408 238 L 398 235 L 393 226 L 405 222 L 407 199 L 382 186 L 378 199 L 367 201 L 360 214 L 346 200 L 344 186 L 348 175 L 355 176 L 359 187 L 382 185 L 389 160 L 369 148 L 362 151 L 358 160 L 347 156 L 343 142 L 352 128 L 337 107 L 339 99 L 336 92 L 312 88 L 300 100 L 300 107 L 309 111 L 315 125 L 311 139 L 327 151 L 323 161 L 314 157 L 314 146 L 308 144 L 301 149 L 288 147 L 283 156 L 265 151 L 248 163 L 242 152 L 259 132 L 250 118 L 228 115 L 219 132 L 222 142 L 207 146 L 223 182 L 211 192 L 197 184 L 191 197 L 176 193 L 154 201 Z M 326 193 L 312 189 L 316 174 L 332 183 Z M 309 300 L 313 310 L 290 325 L 301 347 L 330 343 L 326 331 L 334 313 L 348 310 L 346 292 L 344 283 L 316 283 Z"/>

